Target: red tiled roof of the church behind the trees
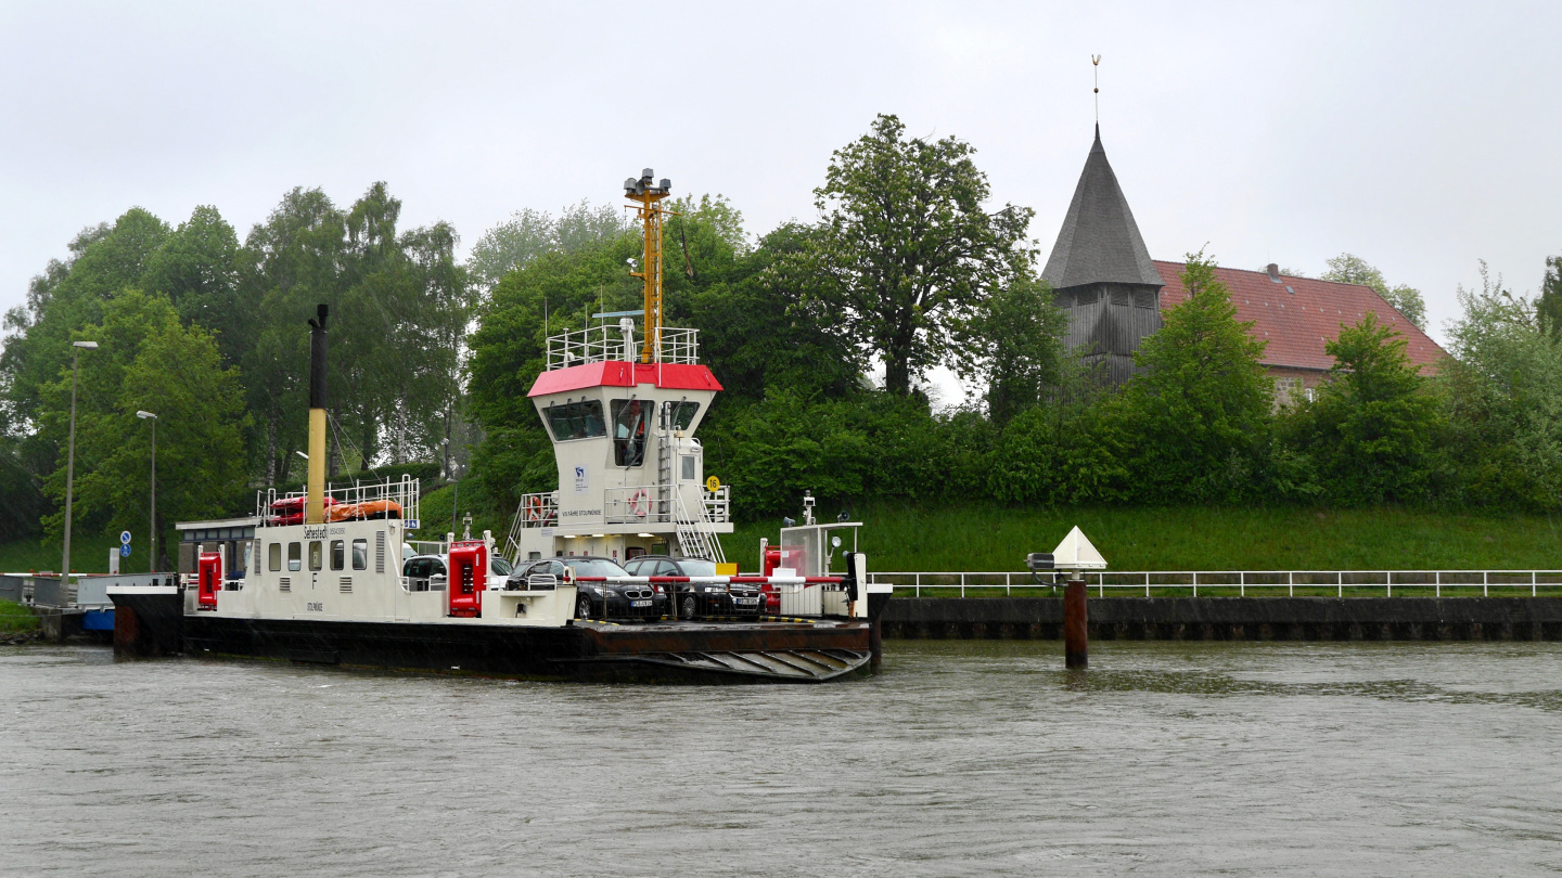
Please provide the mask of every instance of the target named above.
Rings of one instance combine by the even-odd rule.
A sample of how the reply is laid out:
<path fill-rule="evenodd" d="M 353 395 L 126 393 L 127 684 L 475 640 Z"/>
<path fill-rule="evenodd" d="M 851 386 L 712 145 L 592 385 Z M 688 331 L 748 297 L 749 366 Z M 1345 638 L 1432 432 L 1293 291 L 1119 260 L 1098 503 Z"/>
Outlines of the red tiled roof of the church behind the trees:
<path fill-rule="evenodd" d="M 1182 262 L 1156 259 L 1156 270 L 1165 281 L 1162 311 L 1187 300 L 1187 287 L 1179 277 L 1186 269 Z M 1340 334 L 1340 323 L 1354 327 L 1367 311 L 1376 311 L 1382 323 L 1404 336 L 1404 353 L 1410 362 L 1421 366 L 1423 373 L 1435 370 L 1437 361 L 1448 356 L 1370 286 L 1287 275 L 1275 283 L 1267 272 L 1242 269 L 1215 269 L 1215 278 L 1231 291 L 1237 320 L 1251 320 L 1253 334 L 1268 342 L 1262 358 L 1265 366 L 1332 369 L 1334 358 L 1323 350 L 1325 342 Z"/>

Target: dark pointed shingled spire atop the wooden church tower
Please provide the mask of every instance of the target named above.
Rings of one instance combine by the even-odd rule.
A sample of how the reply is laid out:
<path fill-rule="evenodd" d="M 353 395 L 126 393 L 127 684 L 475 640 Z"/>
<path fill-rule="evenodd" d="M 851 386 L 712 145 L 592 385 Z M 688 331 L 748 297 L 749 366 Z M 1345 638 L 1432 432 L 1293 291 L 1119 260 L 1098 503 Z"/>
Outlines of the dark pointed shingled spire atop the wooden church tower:
<path fill-rule="evenodd" d="M 1042 278 L 1053 289 L 1092 283 L 1162 284 L 1145 250 L 1145 239 L 1139 236 L 1134 212 L 1128 209 L 1117 175 L 1106 161 L 1100 123 Z"/>

